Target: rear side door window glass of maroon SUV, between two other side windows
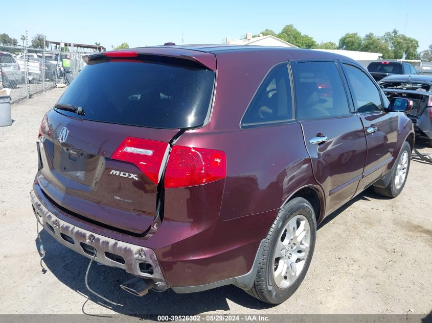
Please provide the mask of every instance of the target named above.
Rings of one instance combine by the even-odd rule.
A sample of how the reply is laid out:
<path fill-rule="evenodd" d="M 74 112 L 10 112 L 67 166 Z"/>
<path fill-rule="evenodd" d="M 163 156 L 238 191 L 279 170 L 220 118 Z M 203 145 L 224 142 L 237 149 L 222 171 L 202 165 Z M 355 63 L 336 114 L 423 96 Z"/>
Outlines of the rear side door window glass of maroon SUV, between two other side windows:
<path fill-rule="evenodd" d="M 350 113 L 347 95 L 335 62 L 297 64 L 295 93 L 298 119 L 326 118 Z"/>

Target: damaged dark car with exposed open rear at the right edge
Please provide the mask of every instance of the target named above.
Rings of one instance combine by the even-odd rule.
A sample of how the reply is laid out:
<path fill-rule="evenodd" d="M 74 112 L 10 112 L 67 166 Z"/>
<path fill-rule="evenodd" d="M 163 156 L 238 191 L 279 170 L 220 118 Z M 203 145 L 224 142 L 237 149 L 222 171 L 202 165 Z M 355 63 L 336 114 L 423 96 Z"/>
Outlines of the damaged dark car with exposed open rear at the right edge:
<path fill-rule="evenodd" d="M 413 109 L 406 115 L 413 121 L 416 135 L 427 139 L 432 146 L 432 76 L 393 75 L 382 79 L 379 85 L 389 99 L 413 100 Z"/>

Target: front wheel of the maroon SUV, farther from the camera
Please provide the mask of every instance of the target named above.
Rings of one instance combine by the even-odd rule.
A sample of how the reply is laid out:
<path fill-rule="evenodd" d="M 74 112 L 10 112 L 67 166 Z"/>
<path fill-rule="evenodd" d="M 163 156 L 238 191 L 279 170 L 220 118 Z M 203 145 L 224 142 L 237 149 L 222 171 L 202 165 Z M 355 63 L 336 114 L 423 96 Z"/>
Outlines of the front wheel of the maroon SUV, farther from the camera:
<path fill-rule="evenodd" d="M 402 192 L 411 163 L 411 146 L 404 141 L 393 168 L 390 182 L 386 187 L 373 186 L 378 195 L 394 198 Z M 403 175 L 404 174 L 404 175 Z"/>

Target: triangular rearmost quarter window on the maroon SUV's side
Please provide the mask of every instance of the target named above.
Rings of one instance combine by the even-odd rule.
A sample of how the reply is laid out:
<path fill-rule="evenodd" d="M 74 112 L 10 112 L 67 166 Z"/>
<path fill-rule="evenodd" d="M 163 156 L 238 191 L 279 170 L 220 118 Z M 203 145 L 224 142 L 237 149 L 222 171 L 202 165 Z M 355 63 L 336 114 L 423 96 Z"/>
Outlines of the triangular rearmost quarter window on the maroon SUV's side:
<path fill-rule="evenodd" d="M 242 125 L 292 119 L 288 66 L 278 65 L 267 74 L 241 121 Z"/>

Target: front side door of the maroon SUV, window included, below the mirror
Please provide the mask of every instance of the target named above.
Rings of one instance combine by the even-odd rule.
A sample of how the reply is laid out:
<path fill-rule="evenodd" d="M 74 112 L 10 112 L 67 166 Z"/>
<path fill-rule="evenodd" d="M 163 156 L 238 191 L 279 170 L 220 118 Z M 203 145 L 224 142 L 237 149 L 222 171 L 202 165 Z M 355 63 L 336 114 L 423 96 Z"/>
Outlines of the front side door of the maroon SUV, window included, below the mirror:
<path fill-rule="evenodd" d="M 388 101 L 368 74 L 344 62 L 355 112 L 366 132 L 368 156 L 359 189 L 367 187 L 389 170 L 393 161 L 398 131 L 398 112 L 385 112 Z"/>

